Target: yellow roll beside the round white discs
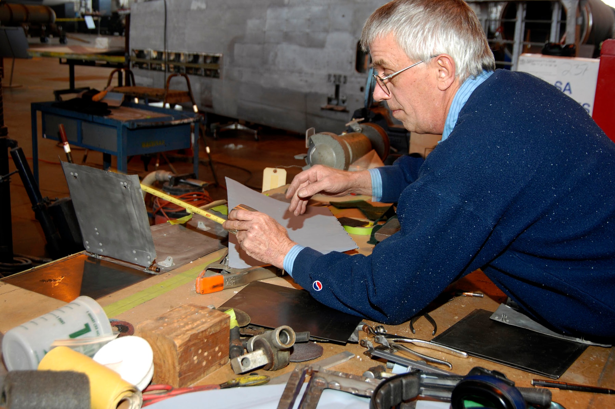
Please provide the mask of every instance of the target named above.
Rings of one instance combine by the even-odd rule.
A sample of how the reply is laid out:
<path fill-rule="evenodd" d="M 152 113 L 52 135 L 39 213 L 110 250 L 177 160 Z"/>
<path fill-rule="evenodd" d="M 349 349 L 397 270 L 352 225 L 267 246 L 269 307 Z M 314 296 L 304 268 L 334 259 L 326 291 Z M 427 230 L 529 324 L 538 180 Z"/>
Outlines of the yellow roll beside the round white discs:
<path fill-rule="evenodd" d="M 138 409 L 143 402 L 137 387 L 105 365 L 69 347 L 55 347 L 47 352 L 38 369 L 85 373 L 90 378 L 92 409 Z"/>

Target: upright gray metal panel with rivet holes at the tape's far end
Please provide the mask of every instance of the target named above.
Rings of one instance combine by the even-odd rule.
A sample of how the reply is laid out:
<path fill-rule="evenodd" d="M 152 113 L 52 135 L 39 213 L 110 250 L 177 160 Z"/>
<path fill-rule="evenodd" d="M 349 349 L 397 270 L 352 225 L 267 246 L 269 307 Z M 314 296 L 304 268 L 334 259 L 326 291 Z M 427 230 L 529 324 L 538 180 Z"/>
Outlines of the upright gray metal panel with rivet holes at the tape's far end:
<path fill-rule="evenodd" d="M 139 177 L 67 162 L 62 169 L 85 250 L 149 267 L 156 249 Z"/>

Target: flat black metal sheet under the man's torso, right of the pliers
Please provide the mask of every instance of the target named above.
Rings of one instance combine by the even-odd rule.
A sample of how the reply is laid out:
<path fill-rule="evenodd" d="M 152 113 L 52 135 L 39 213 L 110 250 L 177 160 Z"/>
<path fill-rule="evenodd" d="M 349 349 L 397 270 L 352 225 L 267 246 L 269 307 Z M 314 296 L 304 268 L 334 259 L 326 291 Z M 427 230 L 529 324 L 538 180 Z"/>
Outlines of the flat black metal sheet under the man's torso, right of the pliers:
<path fill-rule="evenodd" d="M 523 371 L 559 378 L 587 348 L 586 344 L 491 320 L 476 309 L 432 341 Z"/>

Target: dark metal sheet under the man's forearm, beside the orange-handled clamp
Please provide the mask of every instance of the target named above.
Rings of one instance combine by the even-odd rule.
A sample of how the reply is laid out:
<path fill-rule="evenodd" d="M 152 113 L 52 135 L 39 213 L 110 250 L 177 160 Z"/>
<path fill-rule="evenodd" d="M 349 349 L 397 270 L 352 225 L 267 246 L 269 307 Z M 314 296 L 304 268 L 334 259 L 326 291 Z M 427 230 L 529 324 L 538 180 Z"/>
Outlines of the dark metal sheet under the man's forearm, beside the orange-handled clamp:
<path fill-rule="evenodd" d="M 254 281 L 220 308 L 238 308 L 250 315 L 253 325 L 277 328 L 288 325 L 295 332 L 346 344 L 362 318 L 320 304 L 305 290 Z"/>

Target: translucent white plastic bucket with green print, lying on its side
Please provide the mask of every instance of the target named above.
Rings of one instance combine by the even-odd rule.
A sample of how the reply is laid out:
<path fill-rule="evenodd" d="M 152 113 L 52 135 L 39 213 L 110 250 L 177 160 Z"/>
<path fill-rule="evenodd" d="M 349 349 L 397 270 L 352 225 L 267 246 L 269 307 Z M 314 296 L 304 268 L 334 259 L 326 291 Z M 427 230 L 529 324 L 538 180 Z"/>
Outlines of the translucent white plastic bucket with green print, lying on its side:
<path fill-rule="evenodd" d="M 56 339 L 111 334 L 111 324 L 100 304 L 93 298 L 80 296 L 57 310 L 7 331 L 2 339 L 2 355 L 9 371 L 36 370 Z"/>

